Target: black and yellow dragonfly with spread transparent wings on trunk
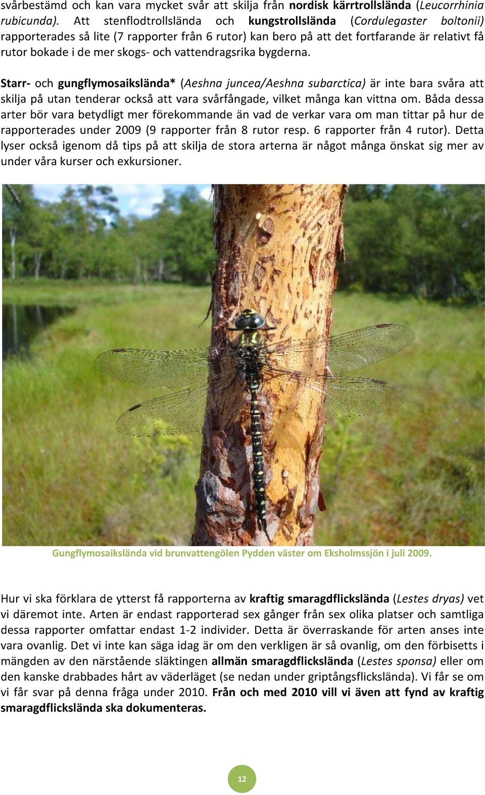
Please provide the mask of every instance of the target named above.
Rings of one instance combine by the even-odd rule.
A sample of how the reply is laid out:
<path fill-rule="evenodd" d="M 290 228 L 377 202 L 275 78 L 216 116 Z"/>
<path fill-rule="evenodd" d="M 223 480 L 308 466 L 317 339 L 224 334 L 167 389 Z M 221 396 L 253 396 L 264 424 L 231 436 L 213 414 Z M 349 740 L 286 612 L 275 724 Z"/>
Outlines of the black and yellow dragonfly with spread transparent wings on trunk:
<path fill-rule="evenodd" d="M 130 436 L 168 436 L 201 431 L 204 417 L 217 415 L 221 397 L 231 405 L 219 415 L 219 429 L 240 421 L 249 409 L 254 510 L 258 529 L 266 532 L 266 480 L 262 411 L 271 414 L 272 387 L 295 387 L 300 403 L 305 394 L 325 399 L 325 414 L 355 417 L 390 411 L 404 393 L 374 378 L 349 376 L 414 339 L 407 326 L 379 324 L 345 334 L 316 339 L 268 342 L 275 330 L 254 309 L 244 309 L 229 332 L 239 332 L 225 347 L 181 351 L 114 348 L 95 359 L 101 373 L 140 386 L 163 388 L 164 394 L 132 406 L 116 422 L 118 432 Z M 300 413 L 305 416 L 305 409 Z M 285 415 L 286 416 L 286 415 Z M 273 424 L 277 415 L 273 413 Z"/>

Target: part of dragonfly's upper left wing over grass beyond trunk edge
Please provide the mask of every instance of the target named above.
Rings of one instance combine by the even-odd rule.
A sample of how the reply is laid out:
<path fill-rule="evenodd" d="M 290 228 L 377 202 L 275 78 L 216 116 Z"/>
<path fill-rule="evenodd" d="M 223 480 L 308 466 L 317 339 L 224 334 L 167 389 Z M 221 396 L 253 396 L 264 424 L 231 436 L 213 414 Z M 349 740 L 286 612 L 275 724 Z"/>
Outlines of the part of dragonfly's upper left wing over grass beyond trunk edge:
<path fill-rule="evenodd" d="M 184 386 L 204 378 L 210 348 L 188 351 L 142 351 L 114 348 L 95 359 L 101 373 L 142 386 Z"/>

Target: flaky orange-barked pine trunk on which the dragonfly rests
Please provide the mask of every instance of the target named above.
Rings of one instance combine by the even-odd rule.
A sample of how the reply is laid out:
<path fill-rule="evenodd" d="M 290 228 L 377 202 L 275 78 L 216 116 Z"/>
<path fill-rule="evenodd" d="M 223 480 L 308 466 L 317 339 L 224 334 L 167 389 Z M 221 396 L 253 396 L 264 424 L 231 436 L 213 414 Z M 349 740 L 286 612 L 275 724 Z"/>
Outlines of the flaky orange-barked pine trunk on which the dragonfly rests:
<path fill-rule="evenodd" d="M 281 339 L 328 337 L 336 259 L 343 250 L 343 185 L 216 185 L 211 345 L 237 342 L 228 327 L 255 309 Z M 325 362 L 319 363 L 319 369 Z M 321 371 L 321 369 L 320 369 Z M 194 545 L 310 545 L 319 504 L 323 395 L 272 378 L 260 394 L 266 532 L 252 494 L 247 400 L 239 386 L 208 405 L 196 486 Z M 238 402 L 239 401 L 239 402 Z M 221 418 L 235 413 L 236 421 Z M 238 409 L 239 411 L 239 409 Z"/>

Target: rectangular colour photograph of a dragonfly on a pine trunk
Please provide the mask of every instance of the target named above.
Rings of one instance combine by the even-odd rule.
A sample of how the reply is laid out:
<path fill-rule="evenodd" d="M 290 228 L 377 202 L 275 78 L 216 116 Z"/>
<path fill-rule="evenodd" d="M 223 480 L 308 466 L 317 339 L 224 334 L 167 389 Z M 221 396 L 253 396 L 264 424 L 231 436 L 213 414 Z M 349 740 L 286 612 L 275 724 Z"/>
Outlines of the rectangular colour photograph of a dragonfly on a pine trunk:
<path fill-rule="evenodd" d="M 2 192 L 3 545 L 483 545 L 483 185 Z"/>

